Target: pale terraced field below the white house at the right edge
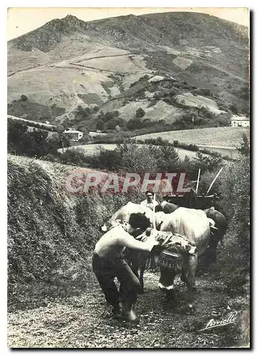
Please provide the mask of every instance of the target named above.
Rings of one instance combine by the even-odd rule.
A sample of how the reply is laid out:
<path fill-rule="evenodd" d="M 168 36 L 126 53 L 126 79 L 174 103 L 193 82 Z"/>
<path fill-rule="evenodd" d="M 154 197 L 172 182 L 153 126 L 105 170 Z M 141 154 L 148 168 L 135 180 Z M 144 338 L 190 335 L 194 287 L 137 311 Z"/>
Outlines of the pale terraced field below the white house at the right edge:
<path fill-rule="evenodd" d="M 158 138 L 179 141 L 186 144 L 199 144 L 204 146 L 239 147 L 242 134 L 250 136 L 250 129 L 243 127 L 217 127 L 209 129 L 188 129 L 185 131 L 168 131 L 148 133 L 136 136 L 138 139 Z"/>

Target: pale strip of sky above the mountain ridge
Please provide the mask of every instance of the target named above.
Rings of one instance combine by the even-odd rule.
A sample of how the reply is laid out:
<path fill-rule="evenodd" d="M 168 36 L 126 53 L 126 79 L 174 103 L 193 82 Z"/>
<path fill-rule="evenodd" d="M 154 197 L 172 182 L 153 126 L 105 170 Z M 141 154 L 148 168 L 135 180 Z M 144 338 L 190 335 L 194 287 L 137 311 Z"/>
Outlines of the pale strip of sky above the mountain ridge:
<path fill-rule="evenodd" d="M 170 11 L 194 11 L 209 13 L 212 16 L 224 18 L 225 20 L 239 23 L 248 26 L 248 9 L 247 8 L 168 8 L 168 7 L 151 7 L 151 8 L 69 8 L 69 7 L 10 7 L 7 13 L 7 40 L 16 38 L 19 35 L 28 33 L 46 22 L 53 20 L 53 18 L 63 18 L 68 14 L 76 16 L 83 21 L 92 21 L 99 18 L 108 18 L 122 15 L 143 15 L 144 13 L 158 13 Z"/>

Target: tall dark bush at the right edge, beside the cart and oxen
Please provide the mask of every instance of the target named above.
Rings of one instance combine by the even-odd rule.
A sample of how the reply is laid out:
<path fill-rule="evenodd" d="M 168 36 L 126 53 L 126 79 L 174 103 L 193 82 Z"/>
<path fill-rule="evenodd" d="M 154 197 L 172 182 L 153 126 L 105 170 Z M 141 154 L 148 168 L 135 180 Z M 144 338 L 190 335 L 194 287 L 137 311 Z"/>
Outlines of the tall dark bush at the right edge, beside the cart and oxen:
<path fill-rule="evenodd" d="M 229 221 L 222 268 L 230 295 L 244 292 L 250 271 L 250 159 L 243 156 L 229 167 L 220 187 L 222 207 Z"/>

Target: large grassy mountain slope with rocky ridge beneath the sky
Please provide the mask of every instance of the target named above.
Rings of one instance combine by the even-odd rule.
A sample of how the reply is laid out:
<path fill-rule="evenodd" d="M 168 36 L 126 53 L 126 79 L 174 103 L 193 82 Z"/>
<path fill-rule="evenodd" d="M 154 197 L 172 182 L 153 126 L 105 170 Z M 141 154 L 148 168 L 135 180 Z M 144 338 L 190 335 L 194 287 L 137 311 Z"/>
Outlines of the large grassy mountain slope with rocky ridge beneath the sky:
<path fill-rule="evenodd" d="M 209 90 L 202 101 L 214 99 L 219 109 L 229 111 L 234 104 L 248 112 L 247 28 L 203 13 L 55 19 L 9 41 L 8 71 L 8 111 L 23 118 L 75 119 L 79 105 L 97 105 L 120 110 L 126 121 L 141 104 L 146 118 L 170 122 L 188 108 L 164 102 L 163 91 L 170 99 L 197 94 L 195 89 Z M 178 84 L 138 83 L 145 75 L 173 77 Z M 27 104 L 19 102 L 21 94 Z M 82 124 L 94 121 L 93 115 Z"/>

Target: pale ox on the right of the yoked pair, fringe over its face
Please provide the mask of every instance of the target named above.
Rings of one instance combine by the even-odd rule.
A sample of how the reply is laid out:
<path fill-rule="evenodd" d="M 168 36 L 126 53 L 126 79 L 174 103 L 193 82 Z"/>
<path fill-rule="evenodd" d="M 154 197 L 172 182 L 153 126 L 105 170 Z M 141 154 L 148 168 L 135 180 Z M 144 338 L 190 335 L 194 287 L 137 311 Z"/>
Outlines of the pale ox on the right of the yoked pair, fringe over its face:
<path fill-rule="evenodd" d="M 171 231 L 173 234 L 185 236 L 192 245 L 196 246 L 195 253 L 183 255 L 181 269 L 181 280 L 187 285 L 187 310 L 192 313 L 195 311 L 192 302 L 197 261 L 209 244 L 210 225 L 213 226 L 214 221 L 209 219 L 207 214 L 200 209 L 187 209 L 185 207 L 180 207 L 166 216 L 164 222 L 160 225 L 160 231 Z M 173 290 L 173 281 L 176 274 L 175 268 L 160 263 L 160 290 L 170 293 L 170 290 Z"/>

